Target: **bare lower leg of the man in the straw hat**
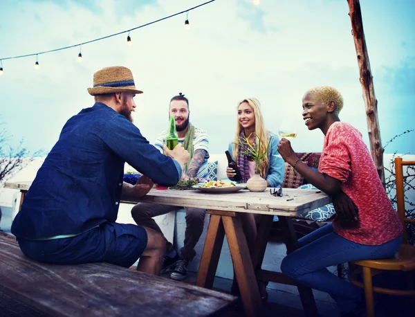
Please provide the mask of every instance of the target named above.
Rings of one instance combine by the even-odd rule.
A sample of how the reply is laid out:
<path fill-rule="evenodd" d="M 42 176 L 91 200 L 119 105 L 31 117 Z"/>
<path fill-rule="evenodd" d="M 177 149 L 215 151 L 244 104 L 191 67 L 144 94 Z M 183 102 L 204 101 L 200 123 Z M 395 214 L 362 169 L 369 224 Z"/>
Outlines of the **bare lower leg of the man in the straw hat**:
<path fill-rule="evenodd" d="M 145 228 L 145 227 L 144 227 Z M 145 228 L 147 246 L 138 261 L 137 271 L 160 275 L 161 260 L 166 252 L 166 239 L 156 230 Z"/>

